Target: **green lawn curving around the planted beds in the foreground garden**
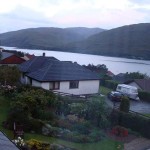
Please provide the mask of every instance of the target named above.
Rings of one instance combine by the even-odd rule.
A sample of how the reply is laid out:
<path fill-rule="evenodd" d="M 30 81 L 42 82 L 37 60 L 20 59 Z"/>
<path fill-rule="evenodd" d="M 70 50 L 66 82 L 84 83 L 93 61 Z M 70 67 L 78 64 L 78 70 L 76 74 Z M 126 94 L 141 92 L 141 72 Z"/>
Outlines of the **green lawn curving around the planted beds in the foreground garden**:
<path fill-rule="evenodd" d="M 10 139 L 13 139 L 12 131 L 2 127 L 2 122 L 6 120 L 8 111 L 9 100 L 0 96 L 0 130 L 3 131 Z M 40 134 L 25 133 L 25 140 L 29 139 L 37 139 L 44 142 L 62 144 L 68 147 L 76 148 L 77 150 L 116 150 L 118 145 L 121 145 L 121 150 L 123 150 L 122 143 L 113 141 L 111 139 L 105 139 L 96 143 L 74 143 Z"/>

